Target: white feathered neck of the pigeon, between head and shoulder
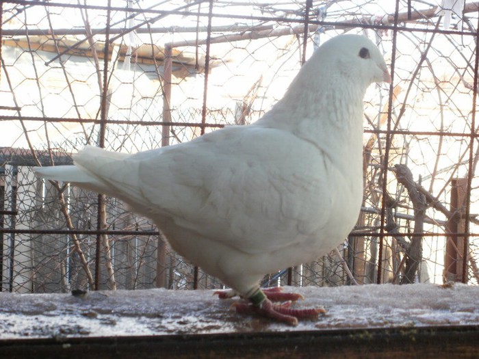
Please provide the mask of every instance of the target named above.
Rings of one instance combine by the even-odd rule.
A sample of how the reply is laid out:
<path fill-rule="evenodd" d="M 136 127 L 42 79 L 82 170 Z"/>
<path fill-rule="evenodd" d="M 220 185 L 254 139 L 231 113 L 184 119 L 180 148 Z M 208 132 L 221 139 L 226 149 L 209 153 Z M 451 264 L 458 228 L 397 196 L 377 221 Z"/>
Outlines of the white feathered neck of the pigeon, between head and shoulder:
<path fill-rule="evenodd" d="M 365 89 L 338 81 L 315 87 L 292 86 L 258 125 L 292 132 L 338 164 L 361 163 Z"/>

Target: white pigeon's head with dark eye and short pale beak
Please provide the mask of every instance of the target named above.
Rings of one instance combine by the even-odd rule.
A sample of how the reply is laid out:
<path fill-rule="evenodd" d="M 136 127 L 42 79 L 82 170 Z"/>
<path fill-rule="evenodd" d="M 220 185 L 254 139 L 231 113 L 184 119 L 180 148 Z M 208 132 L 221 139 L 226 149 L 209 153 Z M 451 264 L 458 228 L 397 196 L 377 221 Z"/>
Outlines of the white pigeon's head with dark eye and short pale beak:
<path fill-rule="evenodd" d="M 337 66 L 337 70 L 347 81 L 365 87 L 374 82 L 391 82 L 391 75 L 383 55 L 376 44 L 365 36 L 354 34 L 335 36 L 324 42 L 318 53 L 320 57 L 327 57 L 322 61 Z"/>

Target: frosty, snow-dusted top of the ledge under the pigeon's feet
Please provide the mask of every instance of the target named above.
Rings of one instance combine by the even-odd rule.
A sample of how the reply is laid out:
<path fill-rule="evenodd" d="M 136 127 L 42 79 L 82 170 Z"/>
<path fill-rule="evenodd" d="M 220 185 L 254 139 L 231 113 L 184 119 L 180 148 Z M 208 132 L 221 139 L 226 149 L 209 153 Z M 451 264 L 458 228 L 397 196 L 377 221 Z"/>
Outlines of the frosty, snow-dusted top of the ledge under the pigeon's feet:
<path fill-rule="evenodd" d="M 285 287 L 305 296 L 296 308 L 327 313 L 295 328 L 238 315 L 235 300 L 213 291 L 99 291 L 71 294 L 0 293 L 0 339 L 275 332 L 430 325 L 478 325 L 479 287 L 455 284 Z"/>

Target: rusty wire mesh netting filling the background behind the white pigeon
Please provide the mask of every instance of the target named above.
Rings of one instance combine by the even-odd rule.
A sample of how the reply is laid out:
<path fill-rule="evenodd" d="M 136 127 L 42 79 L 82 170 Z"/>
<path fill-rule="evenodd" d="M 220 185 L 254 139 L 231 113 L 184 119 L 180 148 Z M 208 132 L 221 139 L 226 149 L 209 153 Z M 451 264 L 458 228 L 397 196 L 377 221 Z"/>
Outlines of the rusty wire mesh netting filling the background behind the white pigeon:
<path fill-rule="evenodd" d="M 365 97 L 361 215 L 337 250 L 263 285 L 478 284 L 479 3 L 448 3 L 1 1 L 1 291 L 222 287 L 119 200 L 31 167 L 254 122 L 344 32 L 393 75 Z"/>

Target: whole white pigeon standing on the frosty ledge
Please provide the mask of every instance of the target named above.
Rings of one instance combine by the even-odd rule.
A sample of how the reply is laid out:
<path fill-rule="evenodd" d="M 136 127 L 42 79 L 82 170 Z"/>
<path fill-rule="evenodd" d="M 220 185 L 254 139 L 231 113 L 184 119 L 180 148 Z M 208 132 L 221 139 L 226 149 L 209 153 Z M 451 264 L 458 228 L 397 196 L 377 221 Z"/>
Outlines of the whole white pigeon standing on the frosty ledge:
<path fill-rule="evenodd" d="M 391 77 L 376 45 L 336 36 L 254 124 L 135 155 L 88 146 L 75 165 L 35 171 L 124 200 L 175 251 L 250 300 L 237 311 L 296 325 L 321 310 L 272 304 L 298 296 L 259 281 L 328 253 L 352 230 L 363 194 L 363 96 L 381 81 Z"/>

